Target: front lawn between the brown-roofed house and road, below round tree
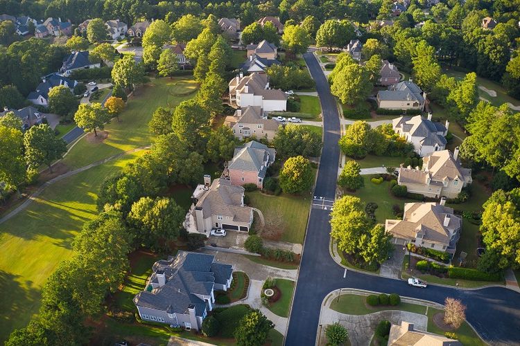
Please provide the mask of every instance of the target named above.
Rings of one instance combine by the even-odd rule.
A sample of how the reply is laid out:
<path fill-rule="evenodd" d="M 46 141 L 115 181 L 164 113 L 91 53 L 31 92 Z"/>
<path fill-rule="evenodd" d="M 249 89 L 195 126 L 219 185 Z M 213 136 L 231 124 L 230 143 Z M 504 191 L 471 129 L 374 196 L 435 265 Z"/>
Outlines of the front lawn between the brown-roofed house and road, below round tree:
<path fill-rule="evenodd" d="M 267 228 L 275 228 L 279 240 L 282 242 L 303 244 L 309 209 L 311 208 L 311 196 L 280 194 L 268 196 L 259 191 L 247 192 L 250 204 L 263 212 L 268 224 Z"/>

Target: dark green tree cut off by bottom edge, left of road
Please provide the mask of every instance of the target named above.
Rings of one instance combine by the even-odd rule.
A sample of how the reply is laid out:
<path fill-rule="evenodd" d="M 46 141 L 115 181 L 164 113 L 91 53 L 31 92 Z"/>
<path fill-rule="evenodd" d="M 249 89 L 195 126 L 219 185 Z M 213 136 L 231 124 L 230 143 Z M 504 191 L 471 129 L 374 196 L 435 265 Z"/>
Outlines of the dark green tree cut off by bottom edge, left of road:
<path fill-rule="evenodd" d="M 254 309 L 245 315 L 236 327 L 234 331 L 236 345 L 263 345 L 269 331 L 274 327 L 275 325 L 260 310 Z"/>

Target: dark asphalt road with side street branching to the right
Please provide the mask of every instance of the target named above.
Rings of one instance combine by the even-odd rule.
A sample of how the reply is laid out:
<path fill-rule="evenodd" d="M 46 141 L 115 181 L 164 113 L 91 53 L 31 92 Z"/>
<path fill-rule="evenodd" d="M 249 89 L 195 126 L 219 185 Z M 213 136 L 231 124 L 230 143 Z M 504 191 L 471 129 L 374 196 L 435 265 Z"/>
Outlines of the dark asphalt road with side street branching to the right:
<path fill-rule="evenodd" d="M 304 59 L 320 95 L 324 116 L 324 145 L 314 195 L 334 199 L 338 172 L 340 124 L 336 102 L 318 61 L 311 53 Z M 340 288 L 367 289 L 431 300 L 443 304 L 446 297 L 467 305 L 467 320 L 492 345 L 520 344 L 520 293 L 502 287 L 463 290 L 430 285 L 410 287 L 403 280 L 347 271 L 329 255 L 329 212 L 313 206 L 309 217 L 304 253 L 296 285 L 286 345 L 315 345 L 320 307 L 331 291 Z"/>

